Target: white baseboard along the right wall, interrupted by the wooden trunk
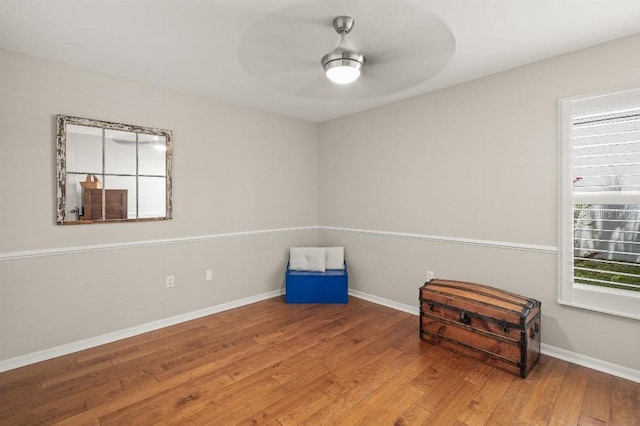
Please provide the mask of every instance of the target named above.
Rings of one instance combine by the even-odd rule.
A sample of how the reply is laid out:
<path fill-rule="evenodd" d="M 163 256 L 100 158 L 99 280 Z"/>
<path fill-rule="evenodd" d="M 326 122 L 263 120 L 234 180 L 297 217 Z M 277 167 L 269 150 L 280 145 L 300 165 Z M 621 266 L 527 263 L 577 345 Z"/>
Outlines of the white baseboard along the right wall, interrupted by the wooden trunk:
<path fill-rule="evenodd" d="M 349 290 L 349 294 L 359 299 L 367 300 L 369 302 L 377 303 L 379 305 L 387 306 L 402 312 L 407 312 L 413 315 L 420 315 L 420 308 L 417 306 L 405 305 L 393 300 L 385 299 L 382 297 L 374 296 L 372 294 L 363 293 L 358 290 Z M 581 365 L 583 367 L 591 368 L 593 370 L 601 371 L 603 373 L 611 374 L 617 377 L 621 377 L 632 382 L 640 383 L 640 371 L 632 368 L 624 367 L 622 365 L 613 364 L 608 361 L 603 361 L 596 358 L 591 358 L 586 355 L 581 355 L 576 352 L 571 352 L 566 349 L 557 348 L 555 346 L 542 343 L 540 345 L 540 352 L 544 355 L 548 355 L 553 358 L 558 358 L 563 361 L 571 362 L 573 364 Z"/>

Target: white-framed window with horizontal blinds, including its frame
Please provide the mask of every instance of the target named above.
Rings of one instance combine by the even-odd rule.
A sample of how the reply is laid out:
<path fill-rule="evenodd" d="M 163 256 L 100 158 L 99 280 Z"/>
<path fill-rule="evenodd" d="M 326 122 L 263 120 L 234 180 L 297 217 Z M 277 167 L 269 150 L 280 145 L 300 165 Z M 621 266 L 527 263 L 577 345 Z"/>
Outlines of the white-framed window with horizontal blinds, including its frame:
<path fill-rule="evenodd" d="M 640 319 L 640 89 L 560 101 L 559 297 Z"/>

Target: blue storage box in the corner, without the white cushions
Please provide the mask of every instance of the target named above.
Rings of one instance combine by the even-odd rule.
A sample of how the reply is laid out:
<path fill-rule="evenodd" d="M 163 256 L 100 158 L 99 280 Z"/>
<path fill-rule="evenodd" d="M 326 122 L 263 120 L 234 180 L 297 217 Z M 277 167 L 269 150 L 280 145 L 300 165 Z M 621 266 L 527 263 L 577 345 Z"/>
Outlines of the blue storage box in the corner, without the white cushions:
<path fill-rule="evenodd" d="M 286 303 L 347 303 L 349 274 L 344 269 L 325 272 L 292 271 L 287 263 L 285 275 Z"/>

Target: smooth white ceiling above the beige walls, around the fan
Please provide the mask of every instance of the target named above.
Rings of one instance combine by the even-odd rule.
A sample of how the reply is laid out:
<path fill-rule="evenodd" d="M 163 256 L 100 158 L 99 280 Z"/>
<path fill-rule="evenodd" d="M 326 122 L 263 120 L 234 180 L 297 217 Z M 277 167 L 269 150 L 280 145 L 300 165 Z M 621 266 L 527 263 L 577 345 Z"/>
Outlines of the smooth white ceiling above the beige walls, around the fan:
<path fill-rule="evenodd" d="M 316 122 L 639 31 L 640 0 L 0 0 L 0 48 Z"/>

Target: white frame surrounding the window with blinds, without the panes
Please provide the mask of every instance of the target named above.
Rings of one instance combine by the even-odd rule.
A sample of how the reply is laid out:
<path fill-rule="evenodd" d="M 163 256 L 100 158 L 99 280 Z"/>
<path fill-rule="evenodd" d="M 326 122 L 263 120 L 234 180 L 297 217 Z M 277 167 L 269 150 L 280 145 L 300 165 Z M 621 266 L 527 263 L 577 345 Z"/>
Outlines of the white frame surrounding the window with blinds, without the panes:
<path fill-rule="evenodd" d="M 558 101 L 558 303 L 640 320 L 640 292 L 573 282 L 573 116 L 632 103 L 640 103 L 640 87 Z"/>

